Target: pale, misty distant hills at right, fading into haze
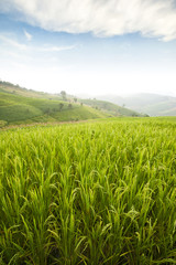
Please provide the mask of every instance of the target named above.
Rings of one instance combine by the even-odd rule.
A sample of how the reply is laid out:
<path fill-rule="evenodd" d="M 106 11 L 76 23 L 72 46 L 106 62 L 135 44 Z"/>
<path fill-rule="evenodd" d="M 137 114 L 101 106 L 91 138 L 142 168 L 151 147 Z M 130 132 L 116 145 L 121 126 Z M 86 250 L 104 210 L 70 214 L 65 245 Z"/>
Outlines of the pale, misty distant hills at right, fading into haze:
<path fill-rule="evenodd" d="M 97 98 L 119 104 L 150 116 L 176 116 L 176 97 L 145 93 L 125 97 L 107 95 Z"/>

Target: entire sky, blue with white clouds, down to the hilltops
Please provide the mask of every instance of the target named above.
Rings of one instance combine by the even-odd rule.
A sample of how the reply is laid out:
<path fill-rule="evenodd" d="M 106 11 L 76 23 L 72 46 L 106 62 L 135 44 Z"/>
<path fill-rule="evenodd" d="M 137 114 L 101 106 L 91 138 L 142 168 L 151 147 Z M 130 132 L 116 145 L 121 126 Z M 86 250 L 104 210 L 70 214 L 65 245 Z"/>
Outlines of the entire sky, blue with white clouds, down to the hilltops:
<path fill-rule="evenodd" d="M 176 96 L 175 72 L 173 0 L 0 0 L 3 81 L 51 93 Z"/>

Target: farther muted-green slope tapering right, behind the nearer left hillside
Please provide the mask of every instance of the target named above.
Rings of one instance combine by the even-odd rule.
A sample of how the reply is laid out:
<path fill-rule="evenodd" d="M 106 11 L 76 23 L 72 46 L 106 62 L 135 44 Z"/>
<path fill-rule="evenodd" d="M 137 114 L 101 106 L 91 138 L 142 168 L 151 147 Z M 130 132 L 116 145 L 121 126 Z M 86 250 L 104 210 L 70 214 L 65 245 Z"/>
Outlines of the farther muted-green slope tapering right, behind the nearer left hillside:
<path fill-rule="evenodd" d="M 105 100 L 97 100 L 97 99 L 79 99 L 80 103 L 84 103 L 88 106 L 91 106 L 96 109 L 101 109 L 103 112 L 107 112 L 113 116 L 132 116 L 132 117 L 143 117 L 145 115 L 142 115 L 138 112 L 131 110 L 125 107 L 118 106 L 110 102 Z"/>

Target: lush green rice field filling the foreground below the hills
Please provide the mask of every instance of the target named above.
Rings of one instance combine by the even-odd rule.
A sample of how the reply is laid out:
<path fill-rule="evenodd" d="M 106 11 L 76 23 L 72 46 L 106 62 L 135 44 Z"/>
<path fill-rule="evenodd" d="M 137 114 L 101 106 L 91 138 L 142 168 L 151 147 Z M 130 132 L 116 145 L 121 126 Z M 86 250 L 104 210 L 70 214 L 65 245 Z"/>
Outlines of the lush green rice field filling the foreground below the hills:
<path fill-rule="evenodd" d="M 0 131 L 1 265 L 176 264 L 176 118 Z"/>

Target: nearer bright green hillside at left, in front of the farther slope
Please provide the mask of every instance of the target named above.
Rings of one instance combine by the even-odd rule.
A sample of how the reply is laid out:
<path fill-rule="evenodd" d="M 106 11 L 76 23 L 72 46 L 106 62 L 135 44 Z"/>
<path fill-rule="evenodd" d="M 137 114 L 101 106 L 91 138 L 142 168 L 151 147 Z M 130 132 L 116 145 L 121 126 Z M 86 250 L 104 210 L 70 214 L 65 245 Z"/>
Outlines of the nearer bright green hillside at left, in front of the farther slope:
<path fill-rule="evenodd" d="M 63 102 L 57 96 L 48 99 L 47 94 L 44 95 L 46 98 L 42 98 L 42 96 L 40 98 L 41 93 L 34 92 L 34 94 L 36 97 L 30 96 L 31 92 L 28 89 L 0 85 L 0 127 L 7 124 L 54 123 L 108 117 L 108 114 L 80 103 Z"/>

